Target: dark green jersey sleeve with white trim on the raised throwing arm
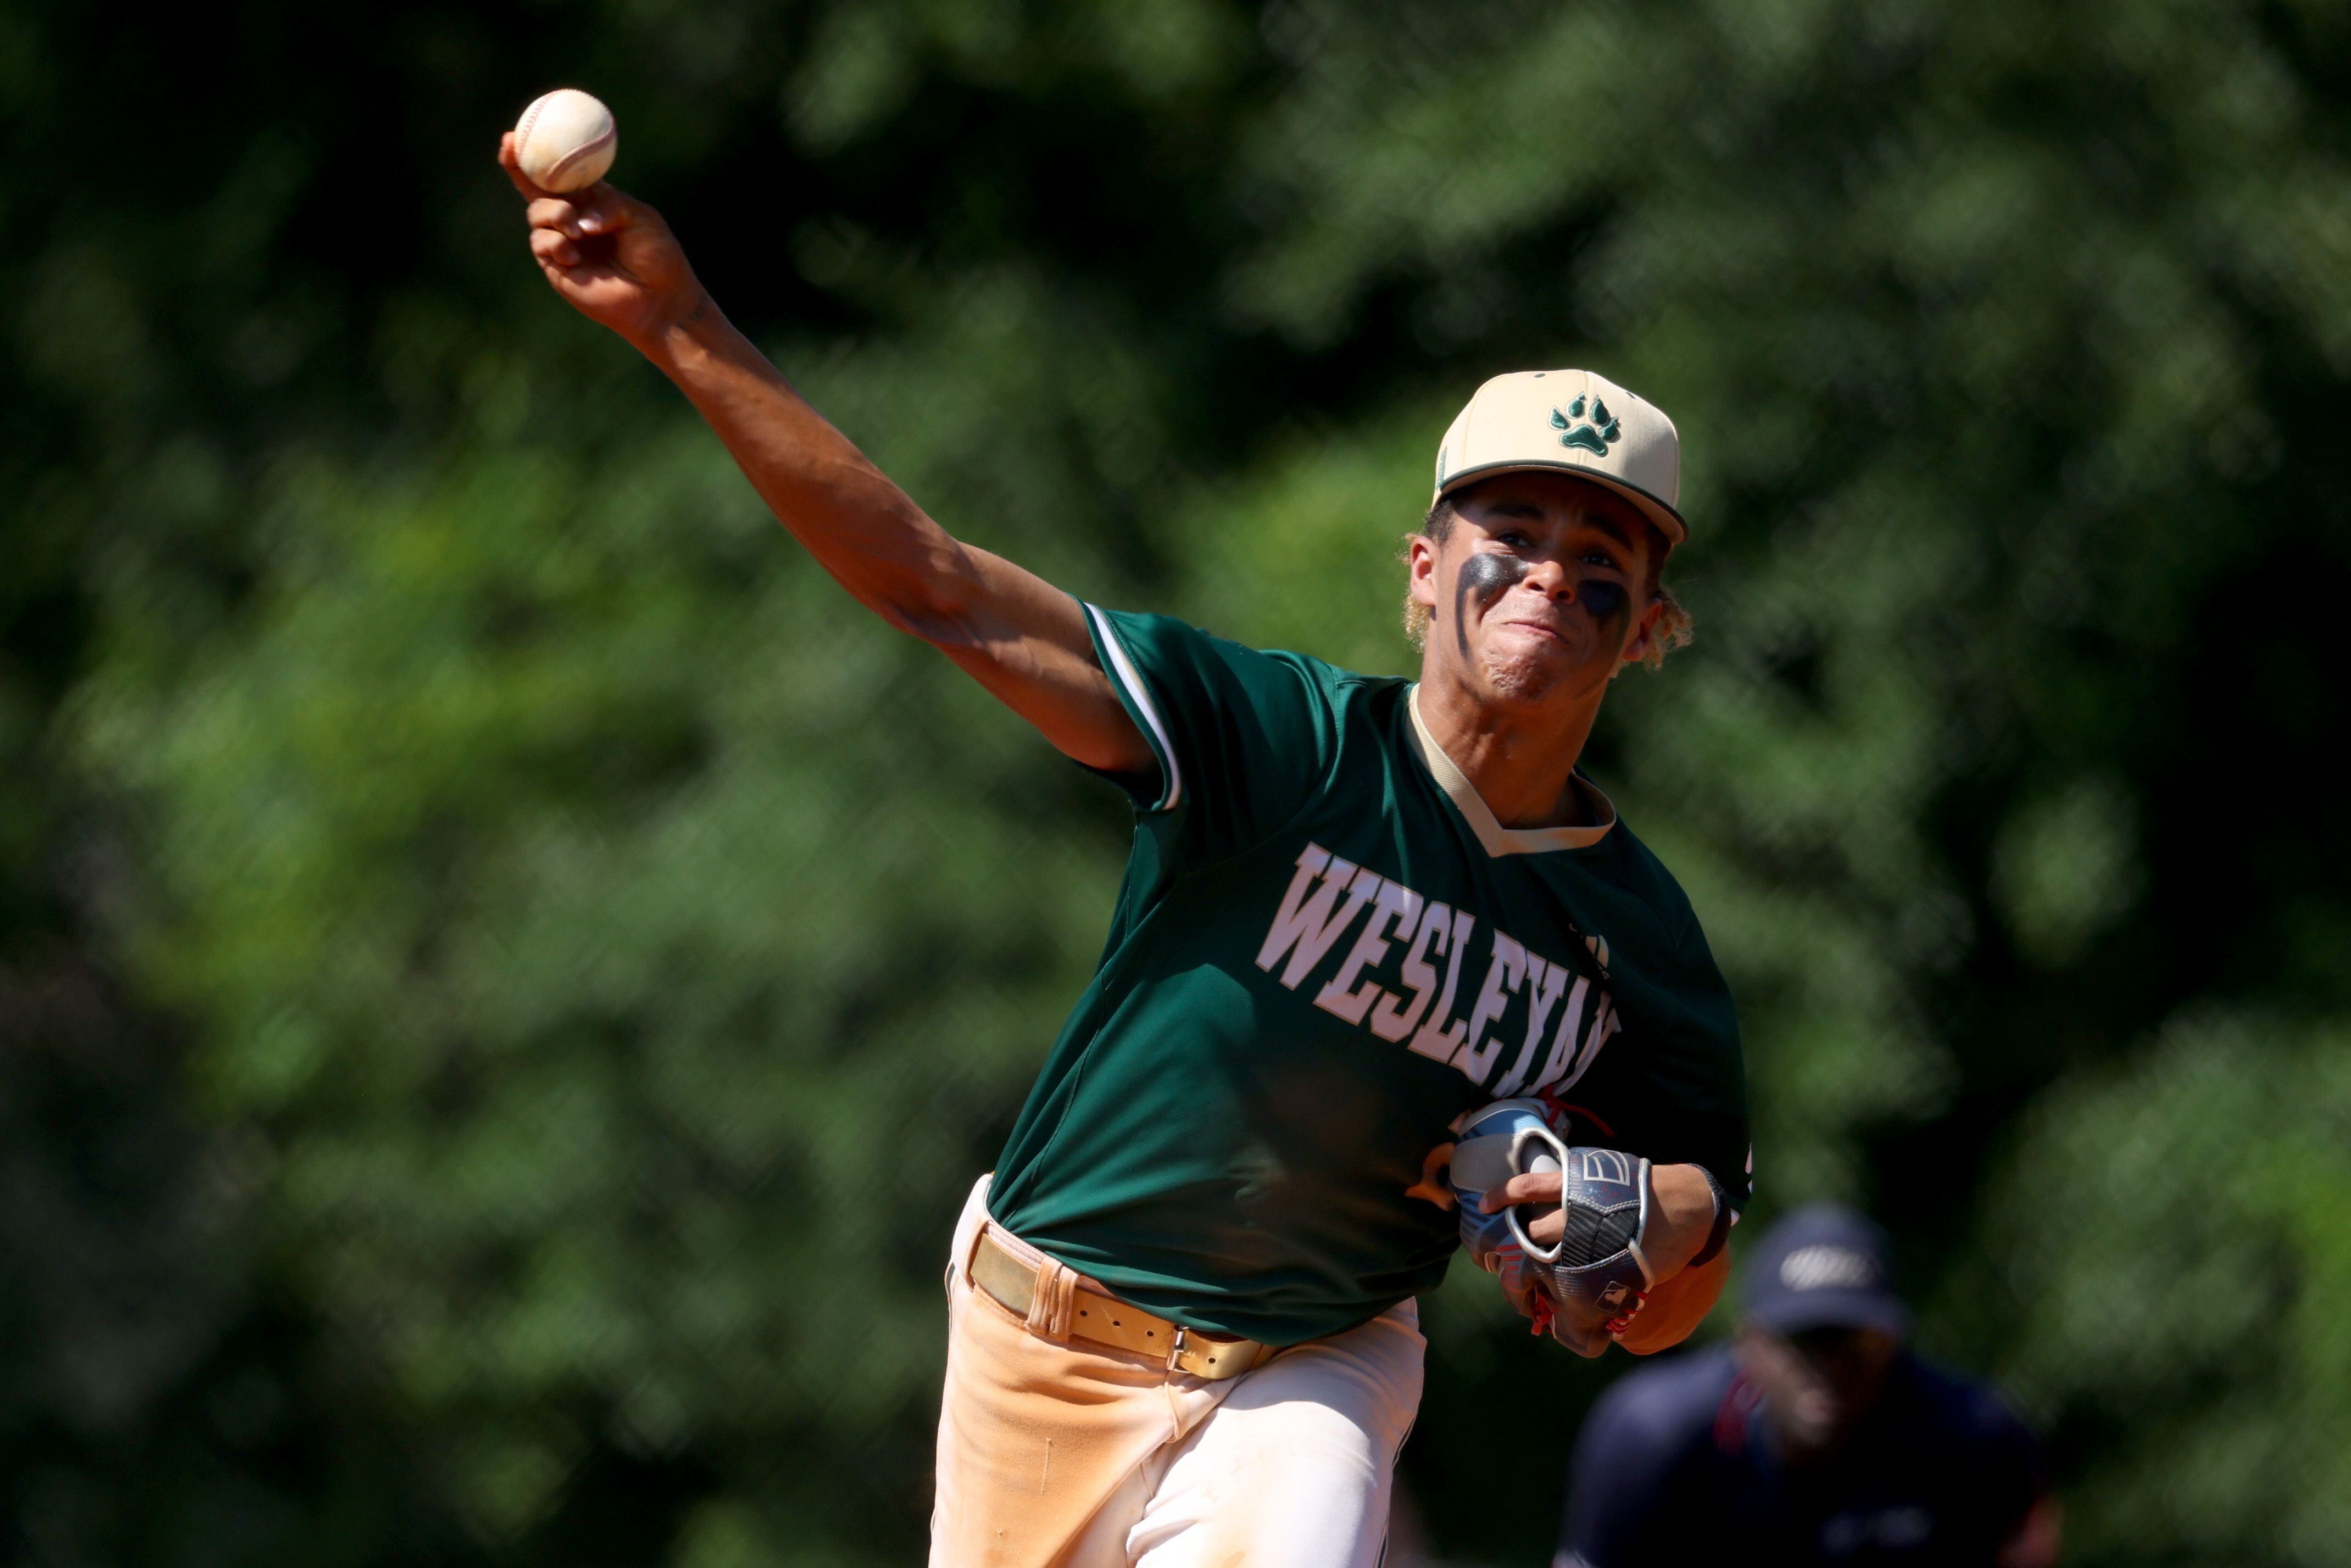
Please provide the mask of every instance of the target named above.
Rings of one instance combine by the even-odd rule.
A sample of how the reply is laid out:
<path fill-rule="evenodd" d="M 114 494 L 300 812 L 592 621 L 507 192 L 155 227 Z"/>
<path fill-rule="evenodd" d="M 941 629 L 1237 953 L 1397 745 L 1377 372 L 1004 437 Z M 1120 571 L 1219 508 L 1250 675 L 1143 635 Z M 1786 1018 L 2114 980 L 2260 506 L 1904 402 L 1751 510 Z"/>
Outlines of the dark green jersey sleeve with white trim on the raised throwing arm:
<path fill-rule="evenodd" d="M 1110 778 L 1176 830 L 1185 858 L 1220 860 L 1272 837 L 1321 788 L 1338 712 L 1314 661 L 1093 604 L 1086 628 L 1157 762 L 1152 776 Z"/>

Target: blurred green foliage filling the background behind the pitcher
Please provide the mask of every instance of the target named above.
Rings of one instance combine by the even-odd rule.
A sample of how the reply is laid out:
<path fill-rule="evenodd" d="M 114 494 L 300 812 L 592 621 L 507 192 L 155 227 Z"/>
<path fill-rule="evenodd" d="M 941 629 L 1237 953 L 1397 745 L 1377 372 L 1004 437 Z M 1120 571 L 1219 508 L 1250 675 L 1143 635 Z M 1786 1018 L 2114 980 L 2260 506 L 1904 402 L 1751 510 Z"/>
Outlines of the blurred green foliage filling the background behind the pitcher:
<path fill-rule="evenodd" d="M 945 1232 L 1124 820 L 545 294 L 489 150 L 578 82 L 1093 599 L 1404 668 L 1481 376 L 1667 407 L 1700 644 L 1594 769 L 1740 992 L 1756 1213 L 1895 1227 L 2076 1561 L 2351 1561 L 2344 61 L 2325 0 L 0 2 L 9 1552 L 922 1540 Z M 1462 1284 L 1408 1479 L 1540 1561 L 1615 1368 Z"/>

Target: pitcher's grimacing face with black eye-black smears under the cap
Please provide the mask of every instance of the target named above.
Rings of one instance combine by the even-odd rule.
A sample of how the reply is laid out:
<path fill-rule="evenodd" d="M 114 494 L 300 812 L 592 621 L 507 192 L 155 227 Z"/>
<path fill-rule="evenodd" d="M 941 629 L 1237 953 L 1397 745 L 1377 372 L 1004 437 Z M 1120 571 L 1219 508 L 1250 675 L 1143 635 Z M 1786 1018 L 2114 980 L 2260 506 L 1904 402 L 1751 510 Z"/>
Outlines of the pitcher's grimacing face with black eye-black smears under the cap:
<path fill-rule="evenodd" d="M 1657 623 L 1650 529 L 1615 491 L 1568 475 L 1495 475 L 1453 498 L 1444 543 L 1413 541 L 1429 651 L 1498 696 L 1592 696 Z"/>

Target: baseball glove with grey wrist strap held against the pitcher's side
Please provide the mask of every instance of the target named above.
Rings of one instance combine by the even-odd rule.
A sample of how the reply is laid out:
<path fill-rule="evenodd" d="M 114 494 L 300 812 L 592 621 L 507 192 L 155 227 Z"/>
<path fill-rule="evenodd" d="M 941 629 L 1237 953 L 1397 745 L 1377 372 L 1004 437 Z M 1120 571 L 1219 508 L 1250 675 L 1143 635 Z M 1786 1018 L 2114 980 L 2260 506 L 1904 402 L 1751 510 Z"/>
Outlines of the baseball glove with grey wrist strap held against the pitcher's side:
<path fill-rule="evenodd" d="M 1559 1208 L 1514 1204 L 1486 1213 L 1486 1194 L 1514 1175 L 1556 1171 Z M 1460 1124 L 1453 1201 L 1462 1246 L 1535 1333 L 1596 1356 L 1632 1324 L 1655 1286 L 1643 1237 L 1653 1211 L 1648 1161 L 1622 1150 L 1568 1147 L 1540 1100 L 1495 1100 Z M 1542 1239 L 1538 1239 L 1538 1234 Z"/>

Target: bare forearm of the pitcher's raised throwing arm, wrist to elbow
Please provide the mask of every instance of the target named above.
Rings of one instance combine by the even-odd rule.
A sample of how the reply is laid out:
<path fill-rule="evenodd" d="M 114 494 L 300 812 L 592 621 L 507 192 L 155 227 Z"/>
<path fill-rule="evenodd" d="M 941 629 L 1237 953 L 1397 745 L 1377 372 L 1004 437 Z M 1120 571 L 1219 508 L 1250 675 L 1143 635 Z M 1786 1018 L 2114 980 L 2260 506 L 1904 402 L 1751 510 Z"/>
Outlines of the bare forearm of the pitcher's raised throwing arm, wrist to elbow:
<path fill-rule="evenodd" d="M 708 296 L 644 355 L 710 423 L 809 555 L 860 604 L 926 642 L 966 642 L 983 552 L 938 527 L 792 390 Z"/>

